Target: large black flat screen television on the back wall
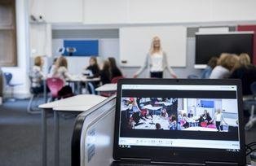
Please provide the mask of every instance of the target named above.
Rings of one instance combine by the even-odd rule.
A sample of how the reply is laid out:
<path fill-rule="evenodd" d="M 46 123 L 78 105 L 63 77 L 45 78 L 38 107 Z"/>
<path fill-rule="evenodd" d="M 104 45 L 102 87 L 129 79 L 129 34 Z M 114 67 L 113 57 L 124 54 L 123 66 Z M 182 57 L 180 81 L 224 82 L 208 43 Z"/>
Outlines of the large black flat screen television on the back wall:
<path fill-rule="evenodd" d="M 222 53 L 253 55 L 253 32 L 196 33 L 195 68 L 205 68 L 213 56 Z"/>

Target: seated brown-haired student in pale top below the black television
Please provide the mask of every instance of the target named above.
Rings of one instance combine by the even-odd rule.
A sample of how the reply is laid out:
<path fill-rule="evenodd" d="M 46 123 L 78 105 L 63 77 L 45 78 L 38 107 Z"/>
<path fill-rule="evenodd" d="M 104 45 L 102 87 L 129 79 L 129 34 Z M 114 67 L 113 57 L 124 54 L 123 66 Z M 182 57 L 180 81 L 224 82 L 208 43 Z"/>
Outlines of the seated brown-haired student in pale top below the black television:
<path fill-rule="evenodd" d="M 222 54 L 218 59 L 218 65 L 210 74 L 210 79 L 223 79 L 231 75 L 232 69 L 238 61 L 237 55 Z"/>

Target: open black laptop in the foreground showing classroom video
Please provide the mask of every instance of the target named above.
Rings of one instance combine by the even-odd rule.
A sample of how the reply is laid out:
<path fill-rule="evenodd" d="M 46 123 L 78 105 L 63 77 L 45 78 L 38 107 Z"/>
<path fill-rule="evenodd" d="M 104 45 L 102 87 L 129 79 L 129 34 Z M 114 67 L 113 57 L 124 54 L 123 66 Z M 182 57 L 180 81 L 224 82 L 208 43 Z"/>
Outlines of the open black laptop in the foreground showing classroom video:
<path fill-rule="evenodd" d="M 112 165 L 245 165 L 241 81 L 123 79 Z"/>

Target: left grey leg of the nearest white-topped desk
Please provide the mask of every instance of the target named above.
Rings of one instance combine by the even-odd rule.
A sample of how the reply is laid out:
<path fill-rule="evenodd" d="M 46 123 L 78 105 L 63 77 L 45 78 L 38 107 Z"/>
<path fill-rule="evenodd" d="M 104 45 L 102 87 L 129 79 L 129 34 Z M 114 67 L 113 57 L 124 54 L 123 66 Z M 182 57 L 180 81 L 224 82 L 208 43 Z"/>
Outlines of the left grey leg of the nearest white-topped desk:
<path fill-rule="evenodd" d="M 42 109 L 42 166 L 47 165 L 46 110 Z"/>

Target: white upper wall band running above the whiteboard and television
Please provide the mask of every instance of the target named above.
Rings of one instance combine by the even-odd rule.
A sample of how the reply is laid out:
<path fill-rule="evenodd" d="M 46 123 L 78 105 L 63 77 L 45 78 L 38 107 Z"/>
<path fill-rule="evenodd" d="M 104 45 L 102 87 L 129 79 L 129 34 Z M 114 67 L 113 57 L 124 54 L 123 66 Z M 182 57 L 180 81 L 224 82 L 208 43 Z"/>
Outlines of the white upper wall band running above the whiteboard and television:
<path fill-rule="evenodd" d="M 256 20 L 255 0 L 29 0 L 49 23 L 162 24 Z"/>

